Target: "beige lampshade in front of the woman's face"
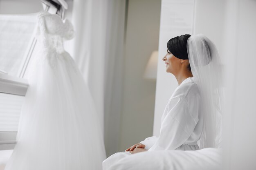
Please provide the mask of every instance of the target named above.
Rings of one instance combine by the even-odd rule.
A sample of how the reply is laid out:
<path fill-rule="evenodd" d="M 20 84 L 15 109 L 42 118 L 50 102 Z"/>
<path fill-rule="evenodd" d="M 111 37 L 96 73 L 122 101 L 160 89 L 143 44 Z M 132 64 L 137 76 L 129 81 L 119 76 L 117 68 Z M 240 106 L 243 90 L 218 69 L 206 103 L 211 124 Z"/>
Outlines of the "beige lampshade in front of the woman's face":
<path fill-rule="evenodd" d="M 150 59 L 148 60 L 148 64 L 144 72 L 145 79 L 155 80 L 157 78 L 157 61 L 158 51 L 153 51 L 153 53 L 150 56 Z"/>

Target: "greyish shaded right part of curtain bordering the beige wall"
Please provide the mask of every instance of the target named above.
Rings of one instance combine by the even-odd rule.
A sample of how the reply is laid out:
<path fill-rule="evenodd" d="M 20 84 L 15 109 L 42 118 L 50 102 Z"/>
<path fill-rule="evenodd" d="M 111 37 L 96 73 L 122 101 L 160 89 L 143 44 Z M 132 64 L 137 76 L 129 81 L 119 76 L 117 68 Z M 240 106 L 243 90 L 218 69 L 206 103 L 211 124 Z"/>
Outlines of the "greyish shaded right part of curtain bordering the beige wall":
<path fill-rule="evenodd" d="M 104 133 L 107 156 L 118 151 L 122 111 L 122 77 L 126 0 L 108 1 L 104 74 Z"/>

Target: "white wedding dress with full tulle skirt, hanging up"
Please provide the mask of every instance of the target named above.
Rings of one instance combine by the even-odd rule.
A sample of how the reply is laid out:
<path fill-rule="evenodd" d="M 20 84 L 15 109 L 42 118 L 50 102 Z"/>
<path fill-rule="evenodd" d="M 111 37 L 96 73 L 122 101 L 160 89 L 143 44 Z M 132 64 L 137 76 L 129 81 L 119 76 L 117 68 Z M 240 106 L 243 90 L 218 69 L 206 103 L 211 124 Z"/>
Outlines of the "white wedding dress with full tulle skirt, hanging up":
<path fill-rule="evenodd" d="M 38 15 L 41 51 L 29 73 L 17 144 L 5 170 L 100 170 L 106 158 L 99 119 L 88 86 L 63 39 L 72 24 Z"/>

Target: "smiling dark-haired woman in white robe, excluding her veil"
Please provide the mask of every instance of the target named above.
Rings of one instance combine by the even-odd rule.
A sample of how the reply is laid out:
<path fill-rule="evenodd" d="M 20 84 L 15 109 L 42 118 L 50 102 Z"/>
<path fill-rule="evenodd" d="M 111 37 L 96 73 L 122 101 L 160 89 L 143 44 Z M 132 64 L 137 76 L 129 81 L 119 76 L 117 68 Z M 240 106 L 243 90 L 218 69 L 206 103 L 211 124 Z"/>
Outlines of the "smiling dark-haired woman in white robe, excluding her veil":
<path fill-rule="evenodd" d="M 166 72 L 179 84 L 162 115 L 159 137 L 148 137 L 140 144 L 149 150 L 197 150 L 202 132 L 201 97 L 189 66 L 187 41 L 191 35 L 172 38 L 163 57 Z M 140 146 L 140 145 L 139 145 Z M 137 146 L 138 147 L 138 146 Z M 133 148 L 132 148 L 133 149 Z M 131 149 L 131 150 L 132 150 Z"/>

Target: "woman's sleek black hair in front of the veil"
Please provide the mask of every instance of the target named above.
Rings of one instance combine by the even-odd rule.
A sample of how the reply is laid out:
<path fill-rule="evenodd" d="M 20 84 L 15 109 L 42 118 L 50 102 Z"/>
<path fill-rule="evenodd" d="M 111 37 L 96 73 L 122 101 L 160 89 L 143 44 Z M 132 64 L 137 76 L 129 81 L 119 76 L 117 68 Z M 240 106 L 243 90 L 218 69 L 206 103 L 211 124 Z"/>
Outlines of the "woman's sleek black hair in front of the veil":
<path fill-rule="evenodd" d="M 186 42 L 191 35 L 185 34 L 172 38 L 167 42 L 167 49 L 177 58 L 189 60 L 188 51 L 186 49 Z M 190 64 L 188 65 L 191 71 Z"/>

